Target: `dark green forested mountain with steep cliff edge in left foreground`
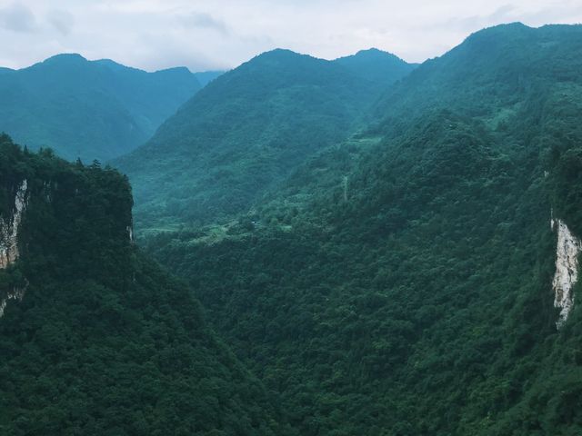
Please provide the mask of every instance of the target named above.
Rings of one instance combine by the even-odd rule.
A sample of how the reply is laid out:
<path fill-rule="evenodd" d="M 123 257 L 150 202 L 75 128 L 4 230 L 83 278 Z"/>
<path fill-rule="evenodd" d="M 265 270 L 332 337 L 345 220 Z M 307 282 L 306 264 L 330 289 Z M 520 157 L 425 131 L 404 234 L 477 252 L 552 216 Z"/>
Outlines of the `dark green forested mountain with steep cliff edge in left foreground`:
<path fill-rule="evenodd" d="M 0 175 L 2 434 L 293 434 L 135 247 L 124 176 L 5 135 Z"/>

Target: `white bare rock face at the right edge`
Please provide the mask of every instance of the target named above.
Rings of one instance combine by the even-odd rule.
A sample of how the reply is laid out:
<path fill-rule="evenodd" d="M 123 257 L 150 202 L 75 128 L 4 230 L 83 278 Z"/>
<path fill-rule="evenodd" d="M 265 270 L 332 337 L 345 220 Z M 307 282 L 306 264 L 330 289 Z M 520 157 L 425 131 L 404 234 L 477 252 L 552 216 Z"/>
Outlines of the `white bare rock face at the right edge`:
<path fill-rule="evenodd" d="M 572 288 L 578 278 L 578 254 L 582 243 L 561 220 L 552 220 L 552 228 L 557 228 L 556 273 L 552 287 L 554 289 L 554 306 L 560 309 L 556 327 L 559 329 L 574 306 Z"/>

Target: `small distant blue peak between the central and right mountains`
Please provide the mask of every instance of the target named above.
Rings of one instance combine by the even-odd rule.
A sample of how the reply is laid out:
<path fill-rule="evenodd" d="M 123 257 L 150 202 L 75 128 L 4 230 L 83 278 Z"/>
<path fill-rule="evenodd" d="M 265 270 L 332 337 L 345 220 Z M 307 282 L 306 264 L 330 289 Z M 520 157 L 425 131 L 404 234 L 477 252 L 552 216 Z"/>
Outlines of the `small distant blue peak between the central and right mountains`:
<path fill-rule="evenodd" d="M 417 66 L 417 64 L 407 64 L 396 55 L 377 48 L 361 50 L 354 55 L 340 57 L 334 62 L 376 83 L 394 83 Z"/>

